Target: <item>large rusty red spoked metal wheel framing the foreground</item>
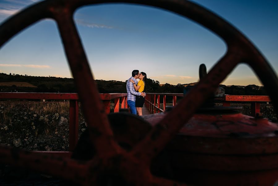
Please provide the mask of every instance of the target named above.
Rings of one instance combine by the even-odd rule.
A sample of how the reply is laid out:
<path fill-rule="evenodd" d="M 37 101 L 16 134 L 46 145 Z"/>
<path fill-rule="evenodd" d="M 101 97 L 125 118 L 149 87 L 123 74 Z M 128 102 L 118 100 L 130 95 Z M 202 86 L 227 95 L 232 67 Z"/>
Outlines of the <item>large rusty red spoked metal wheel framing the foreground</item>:
<path fill-rule="evenodd" d="M 72 18 L 73 12 L 80 6 L 109 2 L 135 3 L 173 11 L 212 30 L 223 38 L 228 46 L 225 56 L 217 62 L 206 78 L 200 80 L 199 84 L 131 151 L 121 148 L 114 140 Z M 153 176 L 149 170 L 150 162 L 238 63 L 247 63 L 254 69 L 277 109 L 278 79 L 264 57 L 230 24 L 192 2 L 185 0 L 47 0 L 27 8 L 3 23 L 0 27 L 0 45 L 2 46 L 13 35 L 43 18 L 52 18 L 58 24 L 75 85 L 79 91 L 84 116 L 88 122 L 89 138 L 96 155 L 88 161 L 77 161 L 2 147 L 1 162 L 25 166 L 83 185 L 103 185 L 113 181 L 120 181 L 122 185 L 177 185 L 174 181 Z M 84 91 L 83 87 L 88 89 Z"/>

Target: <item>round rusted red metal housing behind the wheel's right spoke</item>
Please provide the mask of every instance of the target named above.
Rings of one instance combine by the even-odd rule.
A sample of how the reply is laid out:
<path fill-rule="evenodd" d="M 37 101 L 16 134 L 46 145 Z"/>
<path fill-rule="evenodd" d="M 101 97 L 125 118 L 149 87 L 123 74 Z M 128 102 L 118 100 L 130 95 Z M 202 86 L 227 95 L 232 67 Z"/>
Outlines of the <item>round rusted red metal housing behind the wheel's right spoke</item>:
<path fill-rule="evenodd" d="M 152 125 L 164 117 L 143 116 Z M 241 113 L 194 114 L 165 147 L 164 161 L 170 162 L 174 179 L 188 184 L 273 185 L 278 178 L 277 129 L 266 118 Z M 224 182 L 219 182 L 222 175 Z"/>

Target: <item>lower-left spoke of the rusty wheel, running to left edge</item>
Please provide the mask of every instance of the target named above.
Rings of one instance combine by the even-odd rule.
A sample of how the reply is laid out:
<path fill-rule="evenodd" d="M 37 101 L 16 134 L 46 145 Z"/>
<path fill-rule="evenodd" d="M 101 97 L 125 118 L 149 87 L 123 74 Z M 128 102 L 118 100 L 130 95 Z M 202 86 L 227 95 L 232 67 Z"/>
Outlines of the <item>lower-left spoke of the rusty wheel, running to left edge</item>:
<path fill-rule="evenodd" d="M 50 174 L 76 183 L 85 182 L 88 174 L 86 162 L 0 146 L 1 162 Z M 83 181 L 82 181 L 83 180 Z"/>

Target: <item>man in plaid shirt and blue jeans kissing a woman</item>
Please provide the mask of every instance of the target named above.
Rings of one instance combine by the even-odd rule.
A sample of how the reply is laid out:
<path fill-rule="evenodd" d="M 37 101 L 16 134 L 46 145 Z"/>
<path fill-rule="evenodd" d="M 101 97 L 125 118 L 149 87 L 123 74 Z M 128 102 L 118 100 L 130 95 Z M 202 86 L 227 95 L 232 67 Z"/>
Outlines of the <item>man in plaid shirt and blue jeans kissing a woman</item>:
<path fill-rule="evenodd" d="M 145 96 L 144 92 L 136 92 L 134 89 L 133 84 L 137 85 L 137 80 L 139 78 L 139 70 L 133 70 L 132 76 L 126 82 L 126 91 L 127 91 L 127 105 L 130 107 L 130 111 L 132 114 L 137 114 L 136 107 L 135 107 L 135 95 L 142 95 Z M 129 80 L 132 79 L 135 83 L 130 82 Z"/>

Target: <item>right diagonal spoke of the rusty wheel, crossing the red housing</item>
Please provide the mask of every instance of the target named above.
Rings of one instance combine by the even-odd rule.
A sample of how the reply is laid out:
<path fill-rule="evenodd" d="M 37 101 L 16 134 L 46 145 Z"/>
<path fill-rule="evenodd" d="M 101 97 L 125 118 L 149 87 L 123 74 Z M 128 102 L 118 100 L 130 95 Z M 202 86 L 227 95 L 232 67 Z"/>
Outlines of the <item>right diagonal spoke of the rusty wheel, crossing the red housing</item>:
<path fill-rule="evenodd" d="M 192 89 L 173 110 L 158 122 L 148 136 L 140 142 L 132 153 L 143 162 L 150 162 L 182 128 L 203 102 L 214 93 L 219 83 L 241 60 L 237 53 L 228 52 Z M 174 122 L 173 122 L 174 121 Z"/>

